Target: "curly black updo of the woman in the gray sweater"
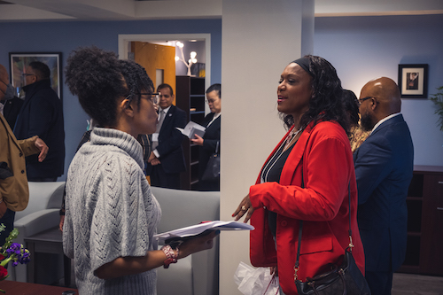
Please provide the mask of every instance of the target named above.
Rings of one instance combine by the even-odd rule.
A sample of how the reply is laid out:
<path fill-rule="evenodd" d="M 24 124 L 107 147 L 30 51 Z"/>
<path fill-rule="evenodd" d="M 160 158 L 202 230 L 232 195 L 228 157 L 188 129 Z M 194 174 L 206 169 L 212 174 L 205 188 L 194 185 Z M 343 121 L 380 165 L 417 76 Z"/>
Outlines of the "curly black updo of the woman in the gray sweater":
<path fill-rule="evenodd" d="M 98 126 L 115 126 L 120 97 L 136 99 L 139 105 L 139 94 L 153 89 L 143 66 L 119 60 L 114 52 L 95 46 L 74 50 L 67 58 L 65 73 L 69 90 Z"/>

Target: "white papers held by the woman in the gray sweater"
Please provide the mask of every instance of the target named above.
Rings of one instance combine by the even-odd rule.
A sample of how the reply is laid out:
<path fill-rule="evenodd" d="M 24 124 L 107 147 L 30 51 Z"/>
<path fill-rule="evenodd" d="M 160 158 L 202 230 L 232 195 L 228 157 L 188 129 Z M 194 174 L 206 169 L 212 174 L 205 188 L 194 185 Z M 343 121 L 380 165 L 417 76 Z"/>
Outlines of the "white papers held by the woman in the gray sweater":
<path fill-rule="evenodd" d="M 154 237 L 160 241 L 174 237 L 192 237 L 201 234 L 206 230 L 253 230 L 254 227 L 245 222 L 238 221 L 207 221 L 196 225 L 191 225 L 182 229 L 174 229 Z"/>

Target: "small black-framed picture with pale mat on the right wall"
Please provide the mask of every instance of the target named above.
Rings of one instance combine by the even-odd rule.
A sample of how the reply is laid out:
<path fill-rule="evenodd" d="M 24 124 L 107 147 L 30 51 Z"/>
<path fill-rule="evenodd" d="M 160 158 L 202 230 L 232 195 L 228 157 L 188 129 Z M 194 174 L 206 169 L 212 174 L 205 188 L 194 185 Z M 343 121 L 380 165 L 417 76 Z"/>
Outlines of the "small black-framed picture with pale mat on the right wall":
<path fill-rule="evenodd" d="M 399 65 L 399 88 L 403 98 L 427 98 L 428 65 Z"/>

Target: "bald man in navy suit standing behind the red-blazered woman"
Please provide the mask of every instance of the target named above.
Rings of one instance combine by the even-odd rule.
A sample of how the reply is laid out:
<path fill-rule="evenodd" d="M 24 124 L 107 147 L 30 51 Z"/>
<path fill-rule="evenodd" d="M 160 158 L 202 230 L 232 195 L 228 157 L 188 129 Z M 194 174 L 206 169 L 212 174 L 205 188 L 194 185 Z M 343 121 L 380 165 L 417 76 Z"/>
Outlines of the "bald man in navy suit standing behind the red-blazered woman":
<path fill-rule="evenodd" d="M 406 197 L 414 169 L 414 147 L 400 113 L 400 90 L 389 78 L 368 82 L 359 98 L 361 126 L 372 130 L 354 152 L 359 223 L 372 294 L 391 294 L 392 273 L 405 259 Z"/>

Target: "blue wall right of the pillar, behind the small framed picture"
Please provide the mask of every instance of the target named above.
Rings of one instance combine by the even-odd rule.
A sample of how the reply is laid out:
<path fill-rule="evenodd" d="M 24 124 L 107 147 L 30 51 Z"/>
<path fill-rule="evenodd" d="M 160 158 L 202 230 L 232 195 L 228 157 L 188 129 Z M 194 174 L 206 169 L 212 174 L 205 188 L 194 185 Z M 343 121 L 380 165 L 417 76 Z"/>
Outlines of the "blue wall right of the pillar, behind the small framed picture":
<path fill-rule="evenodd" d="M 443 15 L 316 18 L 314 53 L 337 68 L 357 97 L 369 80 L 398 80 L 399 64 L 428 64 L 428 93 L 443 86 Z M 429 99 L 403 98 L 416 165 L 443 166 L 443 132 Z"/>

